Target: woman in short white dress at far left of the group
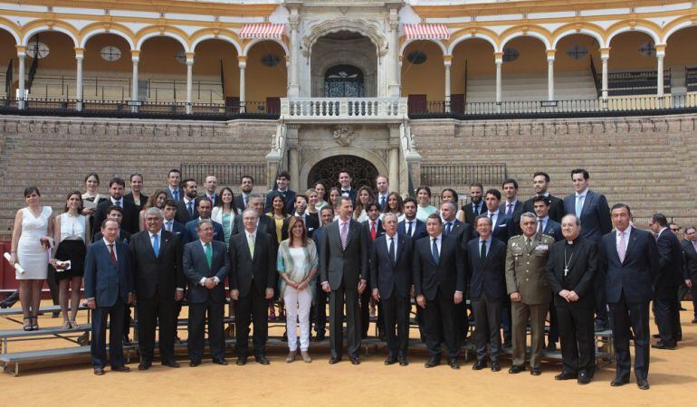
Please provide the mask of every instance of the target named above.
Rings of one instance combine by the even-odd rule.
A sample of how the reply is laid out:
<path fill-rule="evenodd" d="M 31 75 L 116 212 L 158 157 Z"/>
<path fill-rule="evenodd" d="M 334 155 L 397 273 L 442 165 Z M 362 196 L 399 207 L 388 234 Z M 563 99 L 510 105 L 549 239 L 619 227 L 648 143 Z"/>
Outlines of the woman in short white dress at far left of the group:
<path fill-rule="evenodd" d="M 41 289 L 48 272 L 48 260 L 53 238 L 53 210 L 41 204 L 41 194 L 35 186 L 24 190 L 26 208 L 17 211 L 12 230 L 10 262 L 19 263 L 24 273 L 15 273 L 19 281 L 19 301 L 24 314 L 24 330 L 39 329 L 37 316 L 41 304 Z"/>

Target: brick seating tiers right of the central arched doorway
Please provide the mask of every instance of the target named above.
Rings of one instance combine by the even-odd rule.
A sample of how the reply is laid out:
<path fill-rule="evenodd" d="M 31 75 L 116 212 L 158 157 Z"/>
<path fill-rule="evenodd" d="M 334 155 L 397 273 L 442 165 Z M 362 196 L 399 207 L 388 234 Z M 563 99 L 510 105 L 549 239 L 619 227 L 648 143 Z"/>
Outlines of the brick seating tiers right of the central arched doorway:
<path fill-rule="evenodd" d="M 533 194 L 532 174 L 551 177 L 551 194 L 573 191 L 570 170 L 586 168 L 591 189 L 612 204 L 632 207 L 635 222 L 646 226 L 655 212 L 680 224 L 697 221 L 691 182 L 697 170 L 695 117 L 511 120 L 508 122 L 415 120 L 422 163 L 505 163 L 519 181 L 520 197 Z M 453 180 L 468 194 L 471 180 Z M 432 185 L 440 191 L 446 185 Z M 501 185 L 485 185 L 497 187 Z"/>

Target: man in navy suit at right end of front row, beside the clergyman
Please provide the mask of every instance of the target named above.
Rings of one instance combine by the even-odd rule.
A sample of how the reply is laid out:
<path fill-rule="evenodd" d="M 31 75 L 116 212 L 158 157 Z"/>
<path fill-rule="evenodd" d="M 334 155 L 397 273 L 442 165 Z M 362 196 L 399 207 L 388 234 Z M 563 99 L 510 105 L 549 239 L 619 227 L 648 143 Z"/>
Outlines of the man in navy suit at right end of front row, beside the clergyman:
<path fill-rule="evenodd" d="M 611 216 L 616 230 L 603 236 L 598 256 L 599 269 L 606 274 L 607 303 L 616 349 L 616 377 L 610 384 L 629 383 L 629 339 L 634 334 L 636 384 L 645 390 L 649 388 L 649 302 L 659 270 L 658 250 L 650 232 L 629 224 L 632 219 L 629 206 L 615 204 Z"/>

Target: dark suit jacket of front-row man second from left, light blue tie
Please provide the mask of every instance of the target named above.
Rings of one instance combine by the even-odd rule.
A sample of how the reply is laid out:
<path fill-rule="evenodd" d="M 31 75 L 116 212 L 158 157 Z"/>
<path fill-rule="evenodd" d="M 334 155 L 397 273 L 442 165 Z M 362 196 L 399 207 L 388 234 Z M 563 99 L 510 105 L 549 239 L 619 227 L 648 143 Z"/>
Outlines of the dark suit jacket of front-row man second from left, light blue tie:
<path fill-rule="evenodd" d="M 152 249 L 150 232 L 134 234 L 129 243 L 131 272 L 138 298 L 159 297 L 174 301 L 177 289 L 184 289 L 182 269 L 182 241 L 179 237 L 162 229 L 158 257 Z"/>

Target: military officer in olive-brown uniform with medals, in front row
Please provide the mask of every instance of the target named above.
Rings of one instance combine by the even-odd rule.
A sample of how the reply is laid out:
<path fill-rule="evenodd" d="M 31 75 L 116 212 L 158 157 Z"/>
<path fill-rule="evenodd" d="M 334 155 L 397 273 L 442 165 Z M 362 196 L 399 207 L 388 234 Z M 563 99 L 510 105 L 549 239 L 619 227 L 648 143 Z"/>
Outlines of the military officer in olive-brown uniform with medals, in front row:
<path fill-rule="evenodd" d="M 525 370 L 526 327 L 530 321 L 530 374 L 539 375 L 539 359 L 545 342 L 545 317 L 551 290 L 545 266 L 554 238 L 536 232 L 537 216 L 520 215 L 522 234 L 511 237 L 506 251 L 506 288 L 511 296 L 513 364 L 510 374 Z"/>

